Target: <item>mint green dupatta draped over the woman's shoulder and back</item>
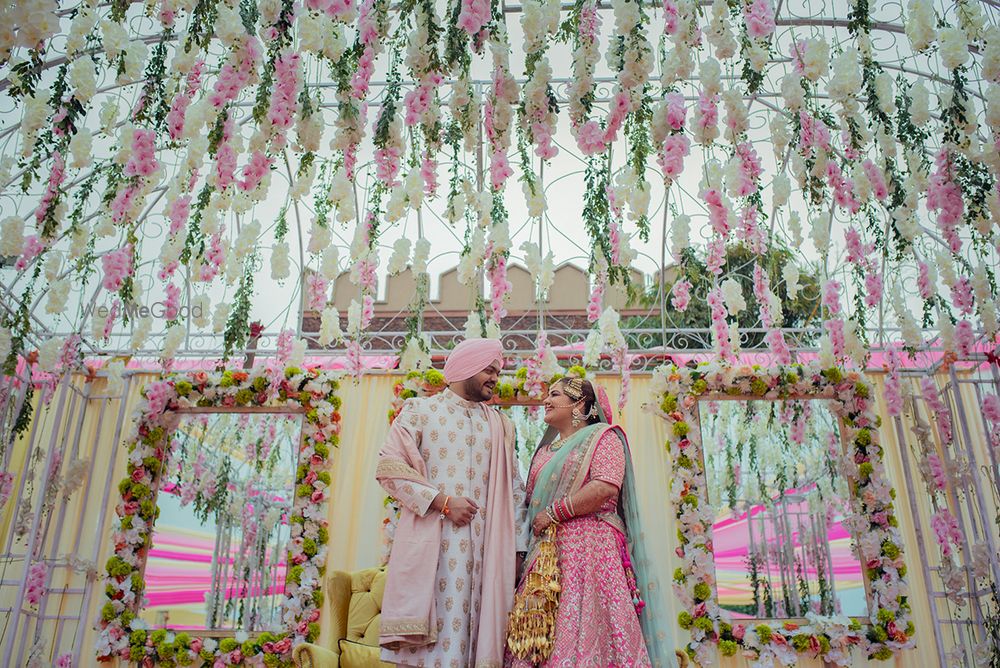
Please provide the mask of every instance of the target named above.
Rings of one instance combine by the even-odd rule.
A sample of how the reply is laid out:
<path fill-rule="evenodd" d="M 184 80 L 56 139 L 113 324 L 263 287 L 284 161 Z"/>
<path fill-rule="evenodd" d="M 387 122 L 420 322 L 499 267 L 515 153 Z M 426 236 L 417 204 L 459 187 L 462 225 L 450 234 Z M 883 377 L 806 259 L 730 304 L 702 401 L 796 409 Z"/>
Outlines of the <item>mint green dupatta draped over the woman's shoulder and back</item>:
<path fill-rule="evenodd" d="M 604 416 L 602 415 L 602 418 Z M 644 546 L 643 525 L 639 515 L 638 496 L 635 490 L 635 471 L 629 453 L 625 432 L 607 422 L 584 427 L 562 442 L 541 471 L 535 477 L 528 501 L 529 520 L 553 501 L 574 494 L 587 482 L 590 463 L 597 450 L 597 444 L 608 432 L 614 432 L 625 448 L 625 478 L 622 481 L 617 513 L 598 513 L 597 517 L 618 529 L 628 539 L 629 553 L 636 583 L 642 592 L 645 608 L 639 615 L 646 651 L 654 666 L 676 665 L 673 634 L 670 625 L 674 615 L 664 588 L 655 576 L 652 555 Z M 543 443 L 546 439 L 543 439 Z M 532 483 L 529 483 L 532 484 Z M 539 537 L 532 536 L 525 565 L 530 568 L 538 554 Z"/>

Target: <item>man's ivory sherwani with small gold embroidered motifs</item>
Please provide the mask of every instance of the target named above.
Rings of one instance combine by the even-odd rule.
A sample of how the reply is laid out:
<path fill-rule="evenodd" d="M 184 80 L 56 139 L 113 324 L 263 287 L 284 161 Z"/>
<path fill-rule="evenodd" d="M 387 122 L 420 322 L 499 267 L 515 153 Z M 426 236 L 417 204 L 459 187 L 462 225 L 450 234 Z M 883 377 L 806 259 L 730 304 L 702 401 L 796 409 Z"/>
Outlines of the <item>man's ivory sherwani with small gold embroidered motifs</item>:
<path fill-rule="evenodd" d="M 424 484 L 413 479 L 380 476 L 386 491 L 402 506 L 419 517 L 426 517 L 438 493 L 469 497 L 481 508 L 486 504 L 490 482 L 491 438 L 486 411 L 495 411 L 480 403 L 465 401 L 450 390 L 426 399 L 411 399 L 393 422 L 396 434 L 390 437 L 412 439 L 426 468 Z M 503 416 L 506 428 L 513 425 Z M 513 449 L 512 449 L 513 452 Z M 380 468 L 395 465 L 381 453 Z M 524 484 L 512 461 L 514 475 L 514 520 L 516 545 L 511 551 L 527 549 L 527 509 Z M 434 608 L 436 641 L 419 647 L 382 649 L 382 660 L 406 666 L 441 666 L 465 668 L 483 665 L 475 647 L 479 634 L 482 566 L 484 557 L 484 513 L 475 515 L 470 524 L 456 526 L 449 519 L 441 521 L 441 547 L 438 553 Z M 390 566 L 391 567 L 391 566 Z M 383 623 L 385 613 L 383 611 Z M 391 612 L 390 612 L 391 614 Z M 490 620 L 506 625 L 506 619 Z M 382 632 L 392 633 L 383 628 Z M 405 629 L 400 629 L 405 631 Z"/>

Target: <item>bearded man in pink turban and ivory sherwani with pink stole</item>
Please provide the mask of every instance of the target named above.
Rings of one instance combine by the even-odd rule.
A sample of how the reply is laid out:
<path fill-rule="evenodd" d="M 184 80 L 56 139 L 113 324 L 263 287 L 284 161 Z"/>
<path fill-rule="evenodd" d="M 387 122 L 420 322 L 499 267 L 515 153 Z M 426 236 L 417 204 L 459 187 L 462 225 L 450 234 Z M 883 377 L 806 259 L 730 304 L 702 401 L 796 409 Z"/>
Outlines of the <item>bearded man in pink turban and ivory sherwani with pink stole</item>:
<path fill-rule="evenodd" d="M 524 484 L 510 419 L 487 406 L 499 341 L 463 341 L 448 388 L 409 399 L 375 478 L 402 506 L 382 600 L 382 660 L 401 666 L 503 664 L 515 550 L 527 547 Z"/>

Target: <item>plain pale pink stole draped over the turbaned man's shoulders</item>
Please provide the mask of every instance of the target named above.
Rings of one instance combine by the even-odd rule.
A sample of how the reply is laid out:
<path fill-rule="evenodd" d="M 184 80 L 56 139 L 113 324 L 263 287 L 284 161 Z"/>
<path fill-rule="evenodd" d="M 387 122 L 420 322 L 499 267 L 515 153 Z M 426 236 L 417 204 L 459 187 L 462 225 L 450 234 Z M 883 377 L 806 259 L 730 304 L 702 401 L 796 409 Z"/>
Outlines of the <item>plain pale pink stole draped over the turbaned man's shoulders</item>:
<path fill-rule="evenodd" d="M 479 634 L 476 666 L 503 664 L 507 614 L 514 602 L 515 528 L 513 431 L 496 410 L 486 408 L 490 423 L 490 479 L 487 484 Z M 415 443 L 390 436 L 382 449 L 376 478 L 399 478 L 430 485 Z M 389 649 L 421 647 L 437 640 L 437 566 L 441 553 L 441 519 L 403 508 L 396 526 L 382 599 L 379 644 Z"/>

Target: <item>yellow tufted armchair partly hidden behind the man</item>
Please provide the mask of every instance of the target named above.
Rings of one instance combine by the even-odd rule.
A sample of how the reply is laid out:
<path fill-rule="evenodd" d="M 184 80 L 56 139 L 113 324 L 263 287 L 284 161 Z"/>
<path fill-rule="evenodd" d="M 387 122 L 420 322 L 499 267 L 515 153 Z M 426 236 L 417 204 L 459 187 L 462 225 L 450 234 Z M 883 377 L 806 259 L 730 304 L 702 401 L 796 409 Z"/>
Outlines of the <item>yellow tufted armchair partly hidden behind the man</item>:
<path fill-rule="evenodd" d="M 384 668 L 379 659 L 385 570 L 333 571 L 326 581 L 327 610 L 321 637 L 326 645 L 302 643 L 292 649 L 299 668 Z"/>

